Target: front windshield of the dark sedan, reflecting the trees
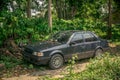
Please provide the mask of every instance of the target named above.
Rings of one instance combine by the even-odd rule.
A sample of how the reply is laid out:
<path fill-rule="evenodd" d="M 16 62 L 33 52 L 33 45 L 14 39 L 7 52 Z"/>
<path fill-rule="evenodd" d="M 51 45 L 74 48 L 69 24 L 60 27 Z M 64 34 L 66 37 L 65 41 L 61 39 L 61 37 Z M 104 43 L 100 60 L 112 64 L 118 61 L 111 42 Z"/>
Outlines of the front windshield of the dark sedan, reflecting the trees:
<path fill-rule="evenodd" d="M 70 33 L 70 32 L 64 32 L 64 31 L 58 32 L 53 35 L 52 40 L 58 41 L 60 43 L 66 43 L 69 40 L 71 35 L 72 35 L 72 33 Z"/>

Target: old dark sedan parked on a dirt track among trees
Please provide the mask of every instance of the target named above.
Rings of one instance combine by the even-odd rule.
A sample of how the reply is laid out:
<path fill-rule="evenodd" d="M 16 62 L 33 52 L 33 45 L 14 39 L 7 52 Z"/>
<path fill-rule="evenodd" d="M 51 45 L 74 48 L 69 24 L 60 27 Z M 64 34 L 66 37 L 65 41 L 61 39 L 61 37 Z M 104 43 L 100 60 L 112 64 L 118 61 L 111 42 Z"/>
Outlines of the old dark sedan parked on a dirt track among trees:
<path fill-rule="evenodd" d="M 27 45 L 23 57 L 31 63 L 49 64 L 51 69 L 57 69 L 74 54 L 78 59 L 84 59 L 99 56 L 107 48 L 107 40 L 99 38 L 93 32 L 61 31 L 48 41 Z"/>

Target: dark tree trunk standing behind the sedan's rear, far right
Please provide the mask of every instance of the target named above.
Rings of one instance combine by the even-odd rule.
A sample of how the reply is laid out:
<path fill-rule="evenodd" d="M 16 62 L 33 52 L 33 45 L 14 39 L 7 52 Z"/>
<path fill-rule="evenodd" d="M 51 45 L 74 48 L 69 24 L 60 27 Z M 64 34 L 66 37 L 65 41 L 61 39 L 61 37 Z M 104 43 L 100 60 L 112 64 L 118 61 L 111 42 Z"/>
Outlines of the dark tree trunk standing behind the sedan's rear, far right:
<path fill-rule="evenodd" d="M 109 11 L 109 19 L 108 19 L 108 39 L 111 39 L 112 37 L 112 31 L 111 31 L 111 27 L 112 27 L 112 23 L 111 23 L 111 0 L 109 0 L 108 2 L 108 11 Z"/>

